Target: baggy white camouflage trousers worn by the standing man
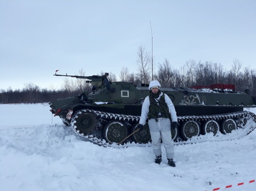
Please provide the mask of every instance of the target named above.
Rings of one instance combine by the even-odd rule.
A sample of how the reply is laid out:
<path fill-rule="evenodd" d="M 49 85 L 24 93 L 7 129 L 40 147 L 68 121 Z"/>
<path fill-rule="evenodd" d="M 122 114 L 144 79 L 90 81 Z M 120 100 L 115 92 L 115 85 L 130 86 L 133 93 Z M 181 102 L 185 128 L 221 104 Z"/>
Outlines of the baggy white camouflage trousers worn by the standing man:
<path fill-rule="evenodd" d="M 171 139 L 171 122 L 168 118 L 160 118 L 158 122 L 155 119 L 148 120 L 148 126 L 151 134 L 151 144 L 155 155 L 162 154 L 161 139 L 164 144 L 167 158 L 174 157 L 174 144 Z"/>

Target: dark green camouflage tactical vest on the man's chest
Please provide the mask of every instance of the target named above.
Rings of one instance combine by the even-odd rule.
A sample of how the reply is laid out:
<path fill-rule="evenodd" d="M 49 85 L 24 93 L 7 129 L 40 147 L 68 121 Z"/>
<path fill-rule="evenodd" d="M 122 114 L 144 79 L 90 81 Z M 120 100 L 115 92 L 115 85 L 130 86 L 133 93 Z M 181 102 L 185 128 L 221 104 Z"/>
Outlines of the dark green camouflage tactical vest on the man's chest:
<path fill-rule="evenodd" d="M 157 101 L 155 100 L 155 98 L 152 97 L 151 94 L 149 95 L 149 99 L 150 106 L 148 112 L 148 119 L 155 119 L 155 121 L 158 122 L 157 118 L 159 118 L 159 112 L 161 113 L 161 117 L 170 118 L 169 108 L 165 102 L 164 93 L 158 100 L 159 105 L 157 104 Z"/>

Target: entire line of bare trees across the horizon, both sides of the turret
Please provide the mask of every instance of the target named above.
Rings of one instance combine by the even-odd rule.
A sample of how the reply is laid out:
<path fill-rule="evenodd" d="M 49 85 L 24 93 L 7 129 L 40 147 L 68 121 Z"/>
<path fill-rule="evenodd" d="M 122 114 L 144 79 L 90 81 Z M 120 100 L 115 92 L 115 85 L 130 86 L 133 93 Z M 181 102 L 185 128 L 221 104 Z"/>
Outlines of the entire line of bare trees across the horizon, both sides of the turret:
<path fill-rule="evenodd" d="M 250 89 L 250 95 L 256 95 L 256 70 L 250 66 L 243 67 L 238 59 L 233 60 L 232 69 L 227 70 L 221 63 L 201 62 L 188 60 L 180 68 L 174 68 L 167 58 L 162 63 L 157 63 L 157 69 L 152 68 L 152 55 L 145 46 L 140 45 L 137 50 L 137 72 L 130 73 L 127 67 L 123 67 L 119 73 L 119 81 L 131 82 L 134 85 L 148 84 L 152 78 L 160 82 L 162 87 L 184 87 L 189 88 L 196 85 L 209 86 L 214 83 L 235 84 L 236 91 L 244 92 Z M 153 62 L 154 63 L 154 62 Z M 154 63 L 153 66 L 156 64 Z M 153 69 L 153 76 L 151 75 Z M 104 75 L 101 71 L 97 75 Z M 79 70 L 80 76 L 85 76 L 83 69 Z M 109 73 L 111 82 L 117 81 L 116 75 Z M 82 91 L 91 92 L 91 84 L 86 79 L 63 79 L 61 89 L 49 86 L 49 89 L 41 89 L 34 83 L 25 83 L 22 90 L 0 89 L 0 103 L 44 103 L 74 96 Z"/>

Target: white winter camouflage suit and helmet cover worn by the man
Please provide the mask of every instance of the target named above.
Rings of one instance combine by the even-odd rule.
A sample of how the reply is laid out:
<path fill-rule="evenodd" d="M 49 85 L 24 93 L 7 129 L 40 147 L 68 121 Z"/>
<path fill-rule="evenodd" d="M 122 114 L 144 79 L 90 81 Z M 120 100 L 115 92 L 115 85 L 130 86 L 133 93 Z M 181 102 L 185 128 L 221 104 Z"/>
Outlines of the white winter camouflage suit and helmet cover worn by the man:
<path fill-rule="evenodd" d="M 154 83 L 155 82 L 155 83 Z M 156 80 L 150 82 L 149 89 L 156 86 L 160 86 L 160 83 Z M 163 95 L 163 92 L 160 93 L 159 97 L 156 99 L 158 100 Z M 171 115 L 171 120 L 173 122 L 177 122 L 177 115 L 176 111 L 173 105 L 173 102 L 171 99 L 164 94 L 165 102 L 167 103 L 167 106 L 169 108 L 169 113 Z M 149 96 L 147 96 L 142 104 L 141 109 L 141 117 L 140 117 L 140 124 L 145 125 L 146 120 L 148 118 L 148 112 L 149 112 L 149 106 L 150 106 L 150 99 Z M 167 158 L 173 158 L 174 157 L 174 144 L 173 140 L 171 139 L 171 122 L 168 118 L 158 118 L 158 122 L 155 121 L 155 119 L 149 119 L 148 120 L 148 126 L 150 128 L 150 134 L 151 134 L 151 140 L 152 140 L 152 146 L 153 146 L 153 153 L 155 155 L 162 154 L 161 151 L 161 139 L 163 140 L 164 148 L 166 151 L 166 157 Z"/>

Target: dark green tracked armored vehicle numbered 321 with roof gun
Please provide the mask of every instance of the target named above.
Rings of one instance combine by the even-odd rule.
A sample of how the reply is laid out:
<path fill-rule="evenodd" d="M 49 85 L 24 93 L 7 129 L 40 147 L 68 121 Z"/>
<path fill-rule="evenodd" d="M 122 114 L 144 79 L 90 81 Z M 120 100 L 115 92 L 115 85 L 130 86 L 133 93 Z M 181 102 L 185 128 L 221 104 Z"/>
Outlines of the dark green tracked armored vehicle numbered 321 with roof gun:
<path fill-rule="evenodd" d="M 149 95 L 147 84 L 110 82 L 108 73 L 93 76 L 70 76 L 88 79 L 92 93 L 49 102 L 50 111 L 79 135 L 93 143 L 148 143 L 148 124 L 138 128 L 144 98 Z M 178 127 L 172 130 L 174 141 L 188 141 L 200 134 L 230 134 L 237 129 L 249 134 L 256 127 L 254 113 L 244 108 L 256 107 L 256 97 L 235 91 L 234 85 L 215 84 L 209 87 L 160 88 L 172 100 L 178 116 Z M 247 91 L 248 92 L 248 91 Z"/>

